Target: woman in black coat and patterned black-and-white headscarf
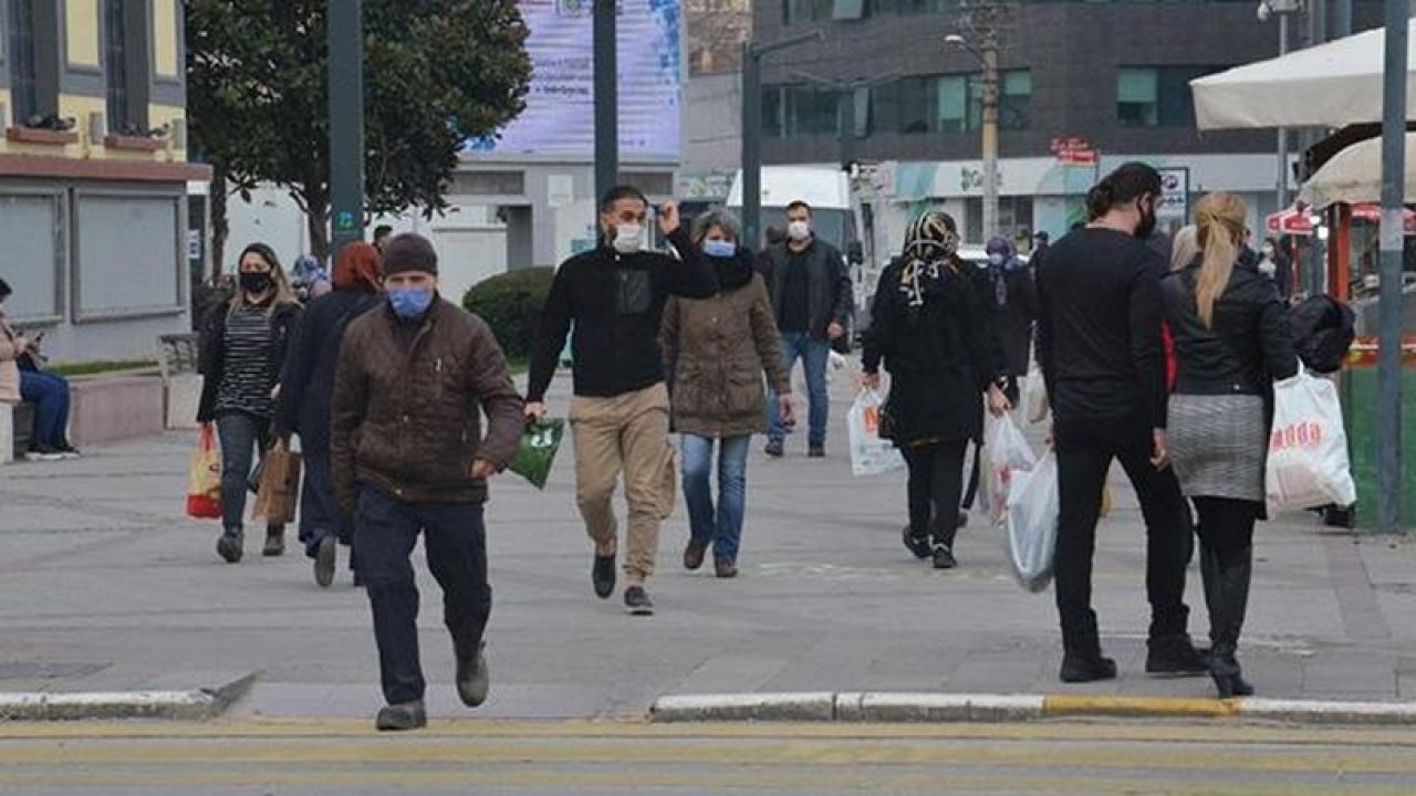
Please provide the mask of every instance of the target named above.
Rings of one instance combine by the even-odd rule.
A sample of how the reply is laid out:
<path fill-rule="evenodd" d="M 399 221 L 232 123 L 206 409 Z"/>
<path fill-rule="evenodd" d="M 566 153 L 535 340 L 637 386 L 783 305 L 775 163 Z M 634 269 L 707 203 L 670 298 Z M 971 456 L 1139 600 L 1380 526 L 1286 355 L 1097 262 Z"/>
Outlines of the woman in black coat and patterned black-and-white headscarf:
<path fill-rule="evenodd" d="M 943 212 L 920 215 L 905 251 L 879 279 L 862 368 L 867 387 L 891 373 L 885 415 L 891 439 L 909 465 L 905 547 L 957 565 L 964 450 L 983 439 L 983 409 L 1008 411 L 1007 363 L 988 305 L 988 276 L 957 255 L 959 231 Z"/>

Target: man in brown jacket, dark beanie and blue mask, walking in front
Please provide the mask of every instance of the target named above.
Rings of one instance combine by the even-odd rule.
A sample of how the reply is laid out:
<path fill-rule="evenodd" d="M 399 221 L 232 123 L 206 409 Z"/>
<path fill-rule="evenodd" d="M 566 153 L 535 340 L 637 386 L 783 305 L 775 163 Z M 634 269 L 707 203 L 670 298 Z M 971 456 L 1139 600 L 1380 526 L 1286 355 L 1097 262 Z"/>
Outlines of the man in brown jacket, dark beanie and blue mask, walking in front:
<path fill-rule="evenodd" d="M 350 323 L 340 347 L 330 453 L 374 612 L 388 701 L 377 727 L 412 729 L 428 718 L 409 555 L 423 531 L 457 656 L 457 695 L 477 707 L 487 698 L 481 636 L 491 613 L 483 503 L 487 480 L 515 455 L 524 418 L 491 330 L 438 296 L 432 244 L 394 238 L 384 273 L 388 302 Z"/>

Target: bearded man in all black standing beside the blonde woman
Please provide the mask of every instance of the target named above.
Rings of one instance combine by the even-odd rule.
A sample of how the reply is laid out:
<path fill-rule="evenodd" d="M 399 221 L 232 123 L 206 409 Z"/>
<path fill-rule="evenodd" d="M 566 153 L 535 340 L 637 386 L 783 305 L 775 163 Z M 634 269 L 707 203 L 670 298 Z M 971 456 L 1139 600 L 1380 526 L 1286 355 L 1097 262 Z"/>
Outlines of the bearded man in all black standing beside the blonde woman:
<path fill-rule="evenodd" d="M 1146 670 L 1204 674 L 1184 603 L 1189 527 L 1165 452 L 1165 350 L 1160 278 L 1144 239 L 1155 228 L 1160 174 L 1126 164 L 1092 188 L 1092 224 L 1048 251 L 1038 271 L 1038 358 L 1054 412 L 1061 514 L 1055 557 L 1061 677 L 1116 677 L 1092 610 L 1102 491 L 1119 459 L 1146 518 L 1151 625 Z"/>

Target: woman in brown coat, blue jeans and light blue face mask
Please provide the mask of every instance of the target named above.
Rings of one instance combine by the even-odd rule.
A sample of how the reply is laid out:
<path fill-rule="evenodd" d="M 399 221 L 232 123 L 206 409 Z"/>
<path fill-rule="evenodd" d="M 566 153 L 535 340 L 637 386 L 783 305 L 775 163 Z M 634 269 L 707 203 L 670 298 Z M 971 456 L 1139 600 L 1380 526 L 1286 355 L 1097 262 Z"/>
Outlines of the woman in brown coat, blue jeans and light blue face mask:
<path fill-rule="evenodd" d="M 694 222 L 692 239 L 714 263 L 718 295 L 670 297 L 658 339 L 671 374 L 673 426 L 683 443 L 691 528 L 684 567 L 701 567 L 711 544 L 716 575 L 732 578 L 746 508 L 748 449 L 753 433 L 767 431 L 762 374 L 779 395 L 783 418 L 792 416 L 792 382 L 766 282 L 752 252 L 738 245 L 736 220 L 725 211 L 704 214 Z M 716 510 L 709 484 L 715 440 Z"/>

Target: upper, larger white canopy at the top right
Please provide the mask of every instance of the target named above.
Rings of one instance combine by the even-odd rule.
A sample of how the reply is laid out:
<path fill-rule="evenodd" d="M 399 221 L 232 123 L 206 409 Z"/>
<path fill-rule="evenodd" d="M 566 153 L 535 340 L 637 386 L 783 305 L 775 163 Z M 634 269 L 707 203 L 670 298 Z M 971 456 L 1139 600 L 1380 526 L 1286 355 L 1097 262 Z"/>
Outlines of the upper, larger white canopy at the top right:
<path fill-rule="evenodd" d="M 1410 20 L 1416 40 L 1416 18 Z M 1382 120 L 1385 28 L 1235 67 L 1189 82 L 1201 130 L 1344 127 Z M 1406 61 L 1408 119 L 1416 112 L 1416 47 Z"/>

